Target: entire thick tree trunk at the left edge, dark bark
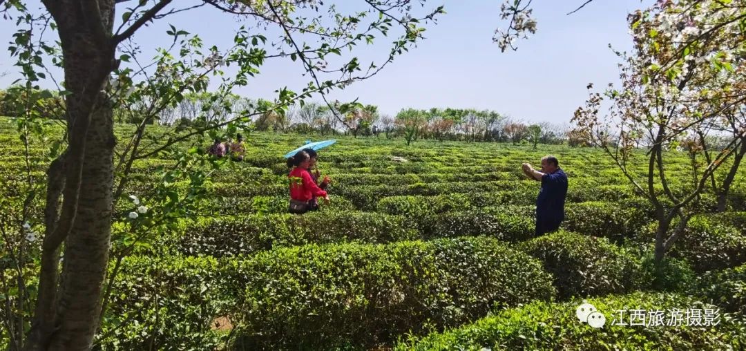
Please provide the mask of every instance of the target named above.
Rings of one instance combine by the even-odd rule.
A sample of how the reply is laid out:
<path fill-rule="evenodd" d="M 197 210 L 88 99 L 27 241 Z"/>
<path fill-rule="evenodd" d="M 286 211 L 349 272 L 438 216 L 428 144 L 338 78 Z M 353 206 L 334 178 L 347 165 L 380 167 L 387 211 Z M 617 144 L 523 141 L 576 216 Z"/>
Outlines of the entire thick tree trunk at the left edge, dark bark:
<path fill-rule="evenodd" d="M 71 93 L 69 146 L 63 159 L 60 216 L 54 233 L 45 237 L 42 266 L 48 269 L 40 278 L 44 294 L 37 300 L 37 330 L 29 333 L 28 349 L 90 350 L 100 320 L 111 234 L 115 139 L 113 109 L 103 90 L 116 65 L 114 0 L 46 0 L 44 4 L 59 28 L 65 87 Z M 57 279 L 63 242 L 63 267 Z"/>

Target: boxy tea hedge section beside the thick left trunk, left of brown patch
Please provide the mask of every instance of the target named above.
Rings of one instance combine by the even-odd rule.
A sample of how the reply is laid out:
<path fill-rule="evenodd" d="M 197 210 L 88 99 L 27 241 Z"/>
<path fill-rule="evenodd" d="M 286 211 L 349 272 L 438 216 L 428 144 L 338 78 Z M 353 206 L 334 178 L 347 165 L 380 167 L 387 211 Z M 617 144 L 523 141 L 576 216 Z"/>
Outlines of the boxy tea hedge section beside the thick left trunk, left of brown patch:
<path fill-rule="evenodd" d="M 227 335 L 211 322 L 234 305 L 215 258 L 129 257 L 114 280 L 101 335 L 104 350 L 213 350 Z M 111 273 L 111 266 L 109 273 Z"/>

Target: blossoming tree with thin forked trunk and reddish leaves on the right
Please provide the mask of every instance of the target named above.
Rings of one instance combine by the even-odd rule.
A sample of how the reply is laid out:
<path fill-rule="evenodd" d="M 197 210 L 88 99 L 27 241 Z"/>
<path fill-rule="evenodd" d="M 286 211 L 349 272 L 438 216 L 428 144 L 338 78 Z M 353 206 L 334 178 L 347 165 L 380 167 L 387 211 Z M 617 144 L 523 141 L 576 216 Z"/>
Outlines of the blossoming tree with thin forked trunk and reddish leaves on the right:
<path fill-rule="evenodd" d="M 746 4 L 742 1 L 658 1 L 629 16 L 634 49 L 622 59 L 621 87 L 590 93 L 572 119 L 575 131 L 601 146 L 655 208 L 655 260 L 683 234 L 700 193 L 721 164 L 742 146 L 746 125 L 733 117 L 746 102 Z M 592 84 L 589 84 L 589 90 Z M 606 114 L 601 110 L 609 104 Z M 723 149 L 709 150 L 691 182 L 671 181 L 668 150 L 730 128 Z M 640 147 L 645 152 L 636 152 Z M 639 176 L 632 161 L 645 158 Z"/>

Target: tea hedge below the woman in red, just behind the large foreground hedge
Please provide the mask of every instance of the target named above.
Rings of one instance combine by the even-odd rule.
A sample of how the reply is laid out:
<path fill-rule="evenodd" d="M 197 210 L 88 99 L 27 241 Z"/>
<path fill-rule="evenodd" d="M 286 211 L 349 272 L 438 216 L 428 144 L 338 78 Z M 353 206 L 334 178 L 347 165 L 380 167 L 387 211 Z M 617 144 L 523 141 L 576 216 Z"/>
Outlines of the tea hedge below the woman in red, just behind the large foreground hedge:
<path fill-rule="evenodd" d="M 186 225 L 178 247 L 186 255 L 249 255 L 307 243 L 390 243 L 418 237 L 399 216 L 319 211 L 201 220 Z"/>

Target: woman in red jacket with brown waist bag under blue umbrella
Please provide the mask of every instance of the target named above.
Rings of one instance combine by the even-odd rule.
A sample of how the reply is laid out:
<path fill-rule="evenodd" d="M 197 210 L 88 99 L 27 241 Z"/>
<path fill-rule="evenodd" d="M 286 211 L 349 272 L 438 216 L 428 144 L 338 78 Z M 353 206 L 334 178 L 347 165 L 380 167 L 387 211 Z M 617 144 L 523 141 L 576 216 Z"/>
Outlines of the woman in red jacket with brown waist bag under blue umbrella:
<path fill-rule="evenodd" d="M 312 209 L 310 201 L 314 196 L 323 197 L 329 202 L 329 195 L 322 190 L 313 176 L 308 172 L 311 158 L 306 152 L 298 152 L 292 158 L 288 158 L 287 166 L 292 167 L 288 178 L 290 178 L 290 207 L 292 214 L 304 214 Z"/>

